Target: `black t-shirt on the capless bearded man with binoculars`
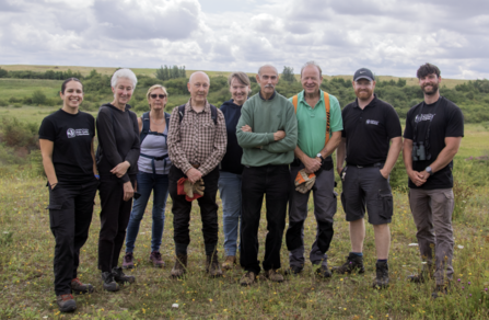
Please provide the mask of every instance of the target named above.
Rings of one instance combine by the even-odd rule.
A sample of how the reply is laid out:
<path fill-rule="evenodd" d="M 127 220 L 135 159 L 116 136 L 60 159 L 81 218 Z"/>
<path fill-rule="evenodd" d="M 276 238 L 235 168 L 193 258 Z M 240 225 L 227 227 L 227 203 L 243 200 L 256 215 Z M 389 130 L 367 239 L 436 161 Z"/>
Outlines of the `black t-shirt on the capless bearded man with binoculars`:
<path fill-rule="evenodd" d="M 418 128 L 416 129 L 417 134 L 415 141 L 416 123 L 418 123 Z M 428 128 L 430 129 L 430 134 L 427 140 Z M 440 96 L 440 99 L 432 104 L 421 102 L 411 107 L 406 116 L 404 137 L 414 140 L 414 142 L 422 141 L 424 145 L 428 142 L 430 146 L 426 153 L 427 156 L 431 155 L 431 159 L 412 161 L 412 169 L 415 171 L 421 172 L 436 160 L 440 152 L 445 148 L 446 137 L 463 136 L 464 115 L 462 114 L 461 108 L 446 98 Z M 409 180 L 409 187 L 424 190 L 453 187 L 452 169 L 453 161 L 445 168 L 434 172 L 420 187 L 417 187 L 411 180 Z"/>

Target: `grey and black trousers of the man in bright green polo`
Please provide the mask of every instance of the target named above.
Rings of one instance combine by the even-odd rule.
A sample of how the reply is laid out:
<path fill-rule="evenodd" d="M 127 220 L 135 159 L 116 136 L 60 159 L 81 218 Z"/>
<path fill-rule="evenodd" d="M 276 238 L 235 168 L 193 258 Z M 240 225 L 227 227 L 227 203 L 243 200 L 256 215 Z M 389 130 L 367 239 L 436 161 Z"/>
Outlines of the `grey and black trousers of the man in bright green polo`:
<path fill-rule="evenodd" d="M 293 181 L 298 175 L 299 170 L 303 169 L 304 164 L 299 167 L 290 167 L 290 178 L 292 181 L 292 190 L 289 202 L 289 228 L 286 233 L 287 247 L 289 249 L 290 266 L 304 266 L 304 221 L 307 218 L 307 202 L 311 191 L 314 199 L 314 216 L 316 217 L 316 240 L 314 241 L 310 260 L 313 264 L 327 265 L 326 251 L 333 239 L 333 217 L 336 214 L 337 199 L 335 194 L 335 171 L 323 170 L 316 178 L 316 182 L 311 191 L 302 194 L 295 191 Z"/>

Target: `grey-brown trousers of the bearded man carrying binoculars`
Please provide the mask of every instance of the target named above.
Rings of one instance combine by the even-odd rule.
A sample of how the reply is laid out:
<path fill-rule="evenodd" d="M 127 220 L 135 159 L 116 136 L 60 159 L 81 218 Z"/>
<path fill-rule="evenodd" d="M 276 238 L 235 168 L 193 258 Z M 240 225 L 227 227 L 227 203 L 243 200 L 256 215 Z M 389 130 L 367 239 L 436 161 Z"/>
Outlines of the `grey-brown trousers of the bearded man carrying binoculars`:
<path fill-rule="evenodd" d="M 419 253 L 429 266 L 435 260 L 436 285 L 444 284 L 444 277 L 453 277 L 453 229 L 452 213 L 454 198 L 452 188 L 409 190 L 409 205 L 418 232 Z"/>

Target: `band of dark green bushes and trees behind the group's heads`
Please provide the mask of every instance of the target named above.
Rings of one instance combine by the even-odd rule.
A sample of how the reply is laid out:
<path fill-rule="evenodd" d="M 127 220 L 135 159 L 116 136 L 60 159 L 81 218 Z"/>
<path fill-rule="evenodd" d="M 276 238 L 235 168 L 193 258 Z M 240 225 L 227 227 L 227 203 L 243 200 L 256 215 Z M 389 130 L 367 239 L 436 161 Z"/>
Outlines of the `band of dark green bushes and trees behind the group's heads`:
<path fill-rule="evenodd" d="M 40 75 L 44 75 L 44 77 L 51 77 L 50 75 L 56 72 L 62 72 L 62 79 L 69 77 L 82 79 L 85 91 L 82 107 L 89 111 L 96 110 L 103 102 L 109 102 L 108 100 L 112 99 L 113 94 L 110 90 L 110 76 L 98 73 L 95 69 L 92 70 L 89 76 L 82 77 L 80 72 L 72 72 L 70 70 L 34 72 L 7 71 L 0 68 L 1 78 L 4 78 L 5 75 L 9 77 L 11 75 L 20 75 L 12 72 L 25 72 L 24 75 L 31 75 L 31 78 L 27 79 L 42 79 Z M 170 99 L 166 111 L 171 111 L 174 106 L 183 104 L 186 100 L 188 100 L 188 79 L 184 75 L 185 67 L 173 66 L 170 68 L 167 66 L 162 66 L 160 69 L 156 69 L 155 72 L 167 75 L 164 77 L 170 77 L 170 79 L 162 80 L 160 78 L 137 75 L 138 85 L 136 87 L 133 100 L 131 101 L 131 105 L 136 111 L 148 110 L 145 92 L 149 87 L 156 83 L 165 85 L 166 90 L 168 91 Z M 259 91 L 259 87 L 256 83 L 255 77 L 251 77 L 249 80 L 252 81 L 252 94 L 256 94 Z M 296 81 L 293 75 L 293 68 L 284 67 L 276 89 L 277 92 L 287 98 L 302 91 L 302 84 L 300 81 Z M 321 84 L 321 89 L 335 95 L 340 102 L 341 107 L 345 107 L 348 103 L 356 99 L 351 80 L 346 80 L 344 78 L 333 78 L 330 80 L 325 79 Z M 453 89 L 442 85 L 440 88 L 440 92 L 462 108 L 466 123 L 489 122 L 489 80 L 484 79 L 467 81 L 465 83 L 457 84 Z M 377 81 L 375 93 L 380 99 L 391 103 L 401 118 L 406 117 L 406 114 L 410 107 L 420 103 L 423 99 L 422 91 L 418 85 L 407 85 L 406 80 L 400 78 L 397 81 Z M 231 99 L 231 94 L 229 92 L 226 77 L 211 77 L 208 96 L 209 102 L 220 106 L 229 99 Z M 35 90 L 31 96 L 12 96 L 8 101 L 0 101 L 0 106 L 12 104 L 14 106 L 22 106 L 22 104 L 57 105 L 59 104 L 59 98 L 46 96 L 40 90 Z"/>

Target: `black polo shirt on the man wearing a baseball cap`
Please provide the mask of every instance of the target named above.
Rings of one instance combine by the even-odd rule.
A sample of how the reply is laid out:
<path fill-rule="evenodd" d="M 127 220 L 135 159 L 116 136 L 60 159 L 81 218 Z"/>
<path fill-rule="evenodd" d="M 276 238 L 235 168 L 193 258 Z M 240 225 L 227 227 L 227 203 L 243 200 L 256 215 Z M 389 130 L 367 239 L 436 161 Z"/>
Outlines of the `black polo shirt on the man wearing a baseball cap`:
<path fill-rule="evenodd" d="M 342 137 L 347 138 L 347 162 L 370 165 L 385 162 L 392 138 L 401 136 L 394 107 L 375 98 L 362 110 L 358 99 L 345 106 Z"/>

